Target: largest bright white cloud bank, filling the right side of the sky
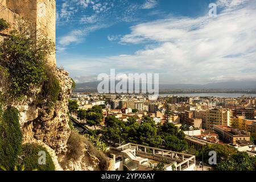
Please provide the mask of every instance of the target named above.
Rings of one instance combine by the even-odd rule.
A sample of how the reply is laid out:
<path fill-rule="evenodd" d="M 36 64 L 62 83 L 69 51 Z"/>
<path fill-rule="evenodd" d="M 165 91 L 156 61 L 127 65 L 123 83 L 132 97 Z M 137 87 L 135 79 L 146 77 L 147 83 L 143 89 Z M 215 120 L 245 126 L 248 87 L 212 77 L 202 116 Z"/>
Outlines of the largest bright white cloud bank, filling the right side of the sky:
<path fill-rule="evenodd" d="M 162 81 L 255 79 L 256 69 L 251 68 L 256 68 L 256 6 L 254 1 L 247 3 L 225 9 L 217 18 L 176 17 L 133 26 L 121 43 L 154 47 L 109 59 L 141 72 L 160 72 Z"/>

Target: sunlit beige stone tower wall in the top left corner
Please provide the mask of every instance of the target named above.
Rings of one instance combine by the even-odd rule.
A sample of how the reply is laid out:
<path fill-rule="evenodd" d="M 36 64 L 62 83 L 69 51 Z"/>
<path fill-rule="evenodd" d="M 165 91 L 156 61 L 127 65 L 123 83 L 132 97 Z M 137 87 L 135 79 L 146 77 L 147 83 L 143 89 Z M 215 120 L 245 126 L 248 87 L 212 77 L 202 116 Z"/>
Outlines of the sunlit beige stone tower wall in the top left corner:
<path fill-rule="evenodd" d="M 15 23 L 16 15 L 28 19 L 41 35 L 56 43 L 55 0 L 0 0 L 0 5 L 0 18 L 7 19 L 11 24 Z M 55 53 L 49 56 L 48 63 L 56 65 Z"/>

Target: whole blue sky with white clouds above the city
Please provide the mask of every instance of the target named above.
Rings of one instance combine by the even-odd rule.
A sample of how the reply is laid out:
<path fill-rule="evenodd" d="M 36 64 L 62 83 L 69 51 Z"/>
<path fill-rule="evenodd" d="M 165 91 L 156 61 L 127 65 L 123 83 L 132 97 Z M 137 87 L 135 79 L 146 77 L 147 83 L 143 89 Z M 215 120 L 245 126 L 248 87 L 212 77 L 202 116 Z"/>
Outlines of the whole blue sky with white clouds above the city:
<path fill-rule="evenodd" d="M 255 0 L 59 0 L 57 64 L 77 82 L 110 69 L 163 84 L 255 80 L 255 17 Z"/>

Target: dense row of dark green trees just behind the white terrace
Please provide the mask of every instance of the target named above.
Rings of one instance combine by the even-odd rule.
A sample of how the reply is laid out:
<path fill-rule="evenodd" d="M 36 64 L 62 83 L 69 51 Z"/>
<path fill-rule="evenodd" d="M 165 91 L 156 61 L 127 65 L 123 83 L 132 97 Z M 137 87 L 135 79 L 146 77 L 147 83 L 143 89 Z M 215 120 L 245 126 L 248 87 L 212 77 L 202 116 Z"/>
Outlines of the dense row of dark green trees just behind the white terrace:
<path fill-rule="evenodd" d="M 106 117 L 102 136 L 109 144 L 117 143 L 120 139 L 120 142 L 150 147 L 164 145 L 168 150 L 174 151 L 186 150 L 188 146 L 183 131 L 171 123 L 159 127 L 147 116 L 142 118 L 141 123 L 136 122 L 134 117 L 127 119 L 127 122 L 122 122 L 114 116 Z"/>

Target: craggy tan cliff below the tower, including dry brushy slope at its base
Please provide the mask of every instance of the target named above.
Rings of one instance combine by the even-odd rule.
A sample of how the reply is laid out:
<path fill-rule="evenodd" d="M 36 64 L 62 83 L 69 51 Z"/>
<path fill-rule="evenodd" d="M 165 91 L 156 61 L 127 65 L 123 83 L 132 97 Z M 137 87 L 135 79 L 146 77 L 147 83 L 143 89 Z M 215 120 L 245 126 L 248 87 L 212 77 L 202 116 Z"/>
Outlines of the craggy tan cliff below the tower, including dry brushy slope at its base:
<path fill-rule="evenodd" d="M 68 98 L 72 92 L 72 80 L 68 73 L 61 69 L 55 69 L 55 75 L 60 82 L 60 92 L 56 104 L 50 109 L 36 97 L 25 96 L 22 100 L 5 97 L 5 105 L 13 106 L 19 111 L 20 129 L 24 143 L 36 143 L 47 149 L 51 155 L 56 170 L 100 170 L 102 156 L 97 153 L 92 144 L 69 128 L 68 122 Z M 5 93 L 8 81 L 2 78 L 0 92 Z M 32 90 L 41 92 L 40 88 Z M 74 137 L 75 135 L 75 137 Z M 75 142 L 68 142 L 70 138 Z M 78 139 L 79 138 L 79 139 Z M 72 146 L 75 145 L 75 146 Z M 80 147 L 77 147 L 80 146 Z M 76 148 L 80 154 L 71 154 L 71 148 Z M 92 150 L 93 148 L 93 150 Z M 108 168 L 108 158 L 103 162 Z"/>

